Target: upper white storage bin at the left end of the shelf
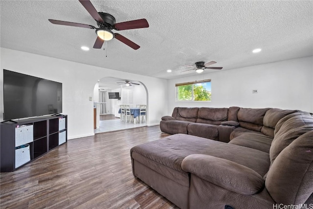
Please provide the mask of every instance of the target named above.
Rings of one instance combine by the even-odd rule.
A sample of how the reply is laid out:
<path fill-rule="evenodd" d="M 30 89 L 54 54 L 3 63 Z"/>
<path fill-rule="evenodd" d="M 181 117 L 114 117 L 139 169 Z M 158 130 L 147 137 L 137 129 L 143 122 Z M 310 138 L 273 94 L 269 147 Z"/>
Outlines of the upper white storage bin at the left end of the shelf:
<path fill-rule="evenodd" d="M 21 146 L 34 140 L 33 125 L 23 125 L 15 128 L 15 146 Z"/>

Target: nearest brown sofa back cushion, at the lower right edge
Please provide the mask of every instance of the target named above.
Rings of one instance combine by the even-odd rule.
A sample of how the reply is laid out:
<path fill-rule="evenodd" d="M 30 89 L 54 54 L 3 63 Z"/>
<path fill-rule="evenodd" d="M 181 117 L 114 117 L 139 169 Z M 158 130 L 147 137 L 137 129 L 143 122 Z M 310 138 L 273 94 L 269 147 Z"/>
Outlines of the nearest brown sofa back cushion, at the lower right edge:
<path fill-rule="evenodd" d="M 265 181 L 270 196 L 285 205 L 303 204 L 313 193 L 313 131 L 294 139 L 272 163 Z"/>

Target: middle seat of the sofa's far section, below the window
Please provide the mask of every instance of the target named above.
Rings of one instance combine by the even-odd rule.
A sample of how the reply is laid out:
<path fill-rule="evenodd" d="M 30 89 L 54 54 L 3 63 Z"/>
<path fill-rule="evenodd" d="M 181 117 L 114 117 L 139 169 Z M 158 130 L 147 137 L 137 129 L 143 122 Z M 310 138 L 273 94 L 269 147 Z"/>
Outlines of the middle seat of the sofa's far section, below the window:
<path fill-rule="evenodd" d="M 206 123 L 191 123 L 187 126 L 189 135 L 218 140 L 219 130 L 217 125 Z"/>

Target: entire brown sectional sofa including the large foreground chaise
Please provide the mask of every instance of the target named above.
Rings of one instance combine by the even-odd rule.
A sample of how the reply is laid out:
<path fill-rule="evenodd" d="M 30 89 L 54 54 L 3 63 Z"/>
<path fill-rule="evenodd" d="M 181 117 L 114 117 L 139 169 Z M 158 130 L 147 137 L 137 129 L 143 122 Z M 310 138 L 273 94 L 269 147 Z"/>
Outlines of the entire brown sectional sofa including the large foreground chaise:
<path fill-rule="evenodd" d="M 313 204 L 310 114 L 274 108 L 196 109 L 182 108 L 181 112 L 175 108 L 160 125 L 161 130 L 171 130 L 174 135 L 131 149 L 136 178 L 182 209 L 224 209 L 225 205 L 272 209 L 276 204 Z M 198 120 L 200 110 L 201 114 L 209 111 L 218 116 L 200 114 Z M 207 124 L 215 131 L 211 134 L 215 139 L 230 127 L 232 131 L 226 134 L 230 142 L 191 135 L 188 126 L 198 121 L 210 121 Z M 223 129 L 221 123 L 225 121 L 236 121 L 239 126 Z M 202 124 L 201 134 L 206 127 Z"/>

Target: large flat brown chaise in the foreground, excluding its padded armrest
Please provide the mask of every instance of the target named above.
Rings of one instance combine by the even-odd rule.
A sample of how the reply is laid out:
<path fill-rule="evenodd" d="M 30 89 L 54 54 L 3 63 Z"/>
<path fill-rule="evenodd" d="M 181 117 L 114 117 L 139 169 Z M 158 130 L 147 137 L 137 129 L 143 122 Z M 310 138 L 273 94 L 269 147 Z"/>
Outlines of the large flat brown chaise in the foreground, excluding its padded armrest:
<path fill-rule="evenodd" d="M 270 164 L 268 153 L 259 150 L 176 134 L 134 146 L 131 149 L 133 174 L 179 208 L 188 209 L 190 173 L 182 170 L 181 163 L 191 154 L 230 160 L 251 168 L 261 176 L 267 173 Z"/>

